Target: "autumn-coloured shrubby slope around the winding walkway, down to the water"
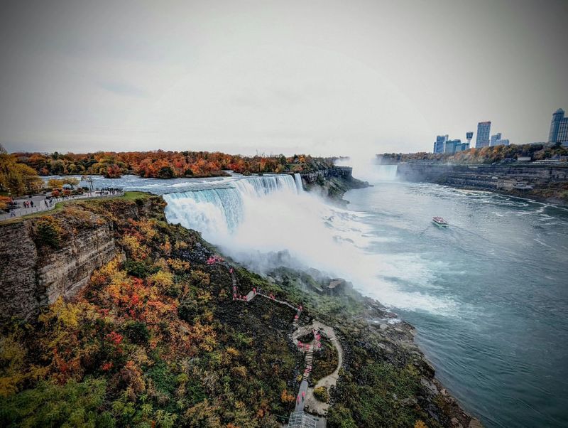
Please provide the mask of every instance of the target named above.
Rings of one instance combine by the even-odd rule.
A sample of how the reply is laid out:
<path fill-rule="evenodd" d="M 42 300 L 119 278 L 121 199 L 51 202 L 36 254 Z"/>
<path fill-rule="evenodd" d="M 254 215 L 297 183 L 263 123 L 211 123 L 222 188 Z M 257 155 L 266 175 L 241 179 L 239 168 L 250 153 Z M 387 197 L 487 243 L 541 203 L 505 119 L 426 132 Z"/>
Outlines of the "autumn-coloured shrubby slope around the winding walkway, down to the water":
<path fill-rule="evenodd" d="M 77 222 L 102 216 L 124 257 L 35 322 L 1 326 L 1 426 L 280 426 L 304 369 L 288 337 L 295 311 L 269 299 L 233 301 L 228 269 L 206 264 L 214 249 L 200 234 L 165 223 L 163 203 L 129 219 L 137 202 L 82 201 L 28 220 L 38 250 L 57 252 Z M 408 324 L 378 328 L 368 320 L 392 314 L 353 290 L 307 291 L 303 282 L 315 281 L 307 274 L 283 270 L 269 282 L 233 265 L 241 290 L 262 287 L 303 304 L 302 323 L 321 319 L 339 334 L 345 362 L 329 391 L 329 427 L 442 427 L 452 417 L 467 426 L 469 417 L 439 392 Z M 328 346 L 315 360 L 326 358 L 337 360 Z"/>

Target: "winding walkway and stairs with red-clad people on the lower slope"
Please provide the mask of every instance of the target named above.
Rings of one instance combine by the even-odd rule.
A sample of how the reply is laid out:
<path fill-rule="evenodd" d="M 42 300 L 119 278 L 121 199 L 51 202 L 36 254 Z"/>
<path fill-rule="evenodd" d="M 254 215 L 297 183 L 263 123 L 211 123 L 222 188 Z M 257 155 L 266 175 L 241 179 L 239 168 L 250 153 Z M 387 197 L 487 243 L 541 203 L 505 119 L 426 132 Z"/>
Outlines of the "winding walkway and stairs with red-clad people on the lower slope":
<path fill-rule="evenodd" d="M 213 259 L 217 260 L 217 259 Z M 291 309 L 295 309 L 296 315 L 292 322 L 295 330 L 290 335 L 290 339 L 293 341 L 295 346 L 301 351 L 305 353 L 305 369 L 304 373 L 302 374 L 302 381 L 300 382 L 300 389 L 298 390 L 296 396 L 296 405 L 294 412 L 290 415 L 290 420 L 288 422 L 288 427 L 325 427 L 326 421 L 325 416 L 327 416 L 327 410 L 329 409 L 329 404 L 320 402 L 314 396 L 314 389 L 313 387 L 309 386 L 309 379 L 310 374 L 312 373 L 312 363 L 313 363 L 313 355 L 314 349 L 320 348 L 320 334 L 323 332 L 328 338 L 329 341 L 333 343 L 335 348 L 337 349 L 337 368 L 335 368 L 334 372 L 331 375 L 327 375 L 326 377 L 320 379 L 315 387 L 326 387 L 329 390 L 329 387 L 335 386 L 337 383 L 337 378 L 339 378 L 339 369 L 342 367 L 343 364 L 343 350 L 337 337 L 335 336 L 335 331 L 332 327 L 326 326 L 319 321 L 312 321 L 312 324 L 309 326 L 301 326 L 300 327 L 300 314 L 302 313 L 302 306 L 294 306 L 288 301 L 285 300 L 278 300 L 275 299 L 273 294 L 266 295 L 261 292 L 260 289 L 253 288 L 249 293 L 246 295 L 239 294 L 239 288 L 236 281 L 236 276 L 234 274 L 234 268 L 230 266 L 227 262 L 222 262 L 226 267 L 229 267 L 229 273 L 231 274 L 231 283 L 233 289 L 233 300 L 245 301 L 250 302 L 256 296 L 262 296 L 266 299 L 272 300 L 275 303 L 282 304 L 285 306 L 290 307 Z M 309 333 L 313 333 L 314 338 L 310 343 L 302 343 L 298 341 L 298 338 L 305 336 Z M 313 417 L 311 414 L 307 414 L 305 412 L 309 410 L 310 412 L 315 412 L 320 416 L 320 418 Z"/>

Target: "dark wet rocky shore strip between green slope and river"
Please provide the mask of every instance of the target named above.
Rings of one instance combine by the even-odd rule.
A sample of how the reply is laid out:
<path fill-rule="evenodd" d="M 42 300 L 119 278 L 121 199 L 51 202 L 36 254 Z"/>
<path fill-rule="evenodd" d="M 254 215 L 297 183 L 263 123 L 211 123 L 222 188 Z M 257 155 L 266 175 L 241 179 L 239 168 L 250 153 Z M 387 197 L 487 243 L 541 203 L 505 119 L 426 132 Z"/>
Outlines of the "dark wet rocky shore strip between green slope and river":
<path fill-rule="evenodd" d="M 314 292 L 314 284 L 332 281 L 316 269 L 310 269 L 310 274 L 307 274 L 288 268 L 269 272 L 268 279 L 284 289 L 300 289 L 307 294 L 315 294 L 315 299 L 318 294 L 317 291 Z M 333 298 L 351 308 L 349 316 L 336 318 L 319 314 L 324 322 L 334 323 L 332 325 L 344 349 L 344 372 L 357 376 L 360 366 L 356 363 L 354 351 L 359 347 L 374 355 L 377 360 L 386 360 L 393 366 L 405 367 L 410 364 L 420 373 L 421 392 L 415 397 L 397 397 L 394 394 L 392 398 L 395 405 L 426 407 L 430 416 L 444 427 L 483 427 L 478 419 L 461 408 L 459 402 L 435 378 L 432 363 L 415 343 L 415 327 L 398 318 L 397 314 L 386 309 L 379 301 L 356 291 L 353 284 L 345 284 L 343 289 L 335 292 Z M 339 397 L 342 393 L 342 377 L 339 377 L 337 389 L 332 392 L 332 404 L 341 401 Z M 439 406 L 444 407 L 444 417 L 440 417 L 435 410 Z"/>

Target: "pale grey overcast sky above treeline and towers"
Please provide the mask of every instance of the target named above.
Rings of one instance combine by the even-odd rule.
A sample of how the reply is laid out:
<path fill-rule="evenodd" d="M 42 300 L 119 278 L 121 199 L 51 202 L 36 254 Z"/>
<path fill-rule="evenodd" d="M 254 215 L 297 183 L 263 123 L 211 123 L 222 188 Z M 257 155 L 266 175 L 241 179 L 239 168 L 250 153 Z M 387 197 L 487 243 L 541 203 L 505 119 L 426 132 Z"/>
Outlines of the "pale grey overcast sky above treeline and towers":
<path fill-rule="evenodd" d="M 2 1 L 9 151 L 431 151 L 568 110 L 568 1 Z M 474 137 L 475 138 L 475 137 Z"/>

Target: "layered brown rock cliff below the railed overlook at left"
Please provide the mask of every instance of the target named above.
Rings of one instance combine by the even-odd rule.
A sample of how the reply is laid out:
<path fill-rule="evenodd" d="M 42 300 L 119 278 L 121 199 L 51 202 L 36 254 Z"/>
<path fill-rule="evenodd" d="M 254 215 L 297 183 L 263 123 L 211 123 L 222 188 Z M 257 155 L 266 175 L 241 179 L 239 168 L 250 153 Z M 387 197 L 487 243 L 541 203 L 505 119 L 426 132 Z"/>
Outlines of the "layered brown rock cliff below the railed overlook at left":
<path fill-rule="evenodd" d="M 75 295 L 94 269 L 121 256 L 114 239 L 116 221 L 147 215 L 152 203 L 160 201 L 69 203 L 59 213 L 0 224 L 0 320 L 30 320 L 58 297 Z M 120 208 L 113 210 L 113 204 Z M 58 236 L 45 242 L 42 225 Z"/>

